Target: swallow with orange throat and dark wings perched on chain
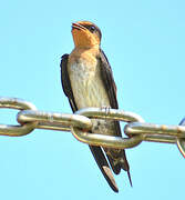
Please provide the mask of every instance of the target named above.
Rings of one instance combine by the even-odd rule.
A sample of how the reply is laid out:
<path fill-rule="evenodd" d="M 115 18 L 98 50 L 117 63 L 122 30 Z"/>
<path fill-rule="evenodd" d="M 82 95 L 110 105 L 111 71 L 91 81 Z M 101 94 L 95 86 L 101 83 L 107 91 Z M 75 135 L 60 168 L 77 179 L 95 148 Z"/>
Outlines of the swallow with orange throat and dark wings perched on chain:
<path fill-rule="evenodd" d="M 61 82 L 72 111 L 84 108 L 119 109 L 116 86 L 110 62 L 101 49 L 102 33 L 91 21 L 72 23 L 74 49 L 61 57 Z M 121 137 L 119 121 L 92 119 L 92 133 Z M 132 186 L 124 149 L 89 146 L 109 186 L 119 192 L 113 172 L 125 170 Z M 111 166 L 111 167 L 110 167 Z M 111 170 L 112 169 L 112 170 Z M 113 171 L 113 172 L 112 172 Z"/>

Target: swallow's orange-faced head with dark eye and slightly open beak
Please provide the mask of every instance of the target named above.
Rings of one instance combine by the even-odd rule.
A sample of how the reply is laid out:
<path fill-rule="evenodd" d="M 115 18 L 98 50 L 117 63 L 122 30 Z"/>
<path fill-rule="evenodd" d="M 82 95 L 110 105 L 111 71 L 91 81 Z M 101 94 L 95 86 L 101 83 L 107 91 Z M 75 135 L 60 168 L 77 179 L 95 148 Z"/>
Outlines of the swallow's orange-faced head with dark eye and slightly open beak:
<path fill-rule="evenodd" d="M 99 47 L 102 33 L 97 26 L 90 21 L 78 21 L 72 23 L 72 36 L 75 47 Z"/>

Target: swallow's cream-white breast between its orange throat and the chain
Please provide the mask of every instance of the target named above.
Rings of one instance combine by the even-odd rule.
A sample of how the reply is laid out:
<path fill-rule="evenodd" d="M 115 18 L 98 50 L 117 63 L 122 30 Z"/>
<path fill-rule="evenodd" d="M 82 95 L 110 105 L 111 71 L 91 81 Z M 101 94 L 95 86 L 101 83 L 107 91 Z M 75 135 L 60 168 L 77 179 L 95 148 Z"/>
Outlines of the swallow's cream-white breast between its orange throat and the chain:
<path fill-rule="evenodd" d="M 110 106 L 97 64 L 93 67 L 76 62 L 69 66 L 69 76 L 78 109 Z"/>

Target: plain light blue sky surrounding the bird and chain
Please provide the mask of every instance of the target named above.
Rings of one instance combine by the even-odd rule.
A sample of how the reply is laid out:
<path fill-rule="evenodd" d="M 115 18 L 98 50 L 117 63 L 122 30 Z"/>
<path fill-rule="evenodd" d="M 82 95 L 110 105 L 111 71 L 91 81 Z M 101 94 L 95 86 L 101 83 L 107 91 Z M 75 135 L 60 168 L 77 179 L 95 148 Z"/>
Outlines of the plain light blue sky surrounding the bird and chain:
<path fill-rule="evenodd" d="M 71 113 L 60 81 L 60 57 L 73 49 L 71 22 L 102 30 L 120 108 L 147 122 L 177 124 L 185 116 L 185 1 L 8 0 L 0 3 L 0 96 L 33 102 L 39 110 Z M 17 111 L 0 110 L 0 123 Z M 86 144 L 70 132 L 34 130 L 0 137 L 0 198 L 182 199 L 185 160 L 176 146 L 143 142 L 126 151 L 114 193 Z"/>

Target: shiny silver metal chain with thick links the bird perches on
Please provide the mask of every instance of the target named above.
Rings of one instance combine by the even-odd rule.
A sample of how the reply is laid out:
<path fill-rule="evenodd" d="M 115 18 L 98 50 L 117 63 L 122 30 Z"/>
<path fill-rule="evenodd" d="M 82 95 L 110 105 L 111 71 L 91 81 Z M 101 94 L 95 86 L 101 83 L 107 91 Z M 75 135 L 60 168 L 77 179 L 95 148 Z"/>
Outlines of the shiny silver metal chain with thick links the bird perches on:
<path fill-rule="evenodd" d="M 178 126 L 146 123 L 136 113 L 115 109 L 86 108 L 74 114 L 45 112 L 35 106 L 17 98 L 0 98 L 0 108 L 20 110 L 17 114 L 18 126 L 0 124 L 0 136 L 19 137 L 34 129 L 71 131 L 81 142 L 127 149 L 138 146 L 142 141 L 176 143 L 185 157 L 185 118 Z M 117 120 L 126 122 L 124 132 L 127 138 L 90 133 L 91 119 Z"/>

